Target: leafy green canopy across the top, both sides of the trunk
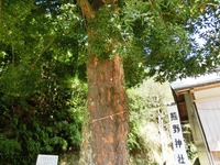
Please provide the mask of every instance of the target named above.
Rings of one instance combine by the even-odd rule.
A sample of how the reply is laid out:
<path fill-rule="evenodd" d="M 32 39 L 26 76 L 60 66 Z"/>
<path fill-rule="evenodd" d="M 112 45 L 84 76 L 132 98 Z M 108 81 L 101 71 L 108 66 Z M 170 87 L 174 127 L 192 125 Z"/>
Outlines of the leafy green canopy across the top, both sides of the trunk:
<path fill-rule="evenodd" d="M 94 8 L 99 3 L 88 2 Z M 94 47 L 100 58 L 114 53 L 124 56 L 127 84 L 133 86 L 143 79 L 146 68 L 148 75 L 156 74 L 164 81 L 210 72 L 219 65 L 218 1 L 117 3 L 118 11 L 107 12 L 111 7 L 106 4 L 96 9 L 98 22 L 88 22 L 72 0 L 2 1 L 1 67 L 9 59 L 12 64 L 31 63 L 26 66 L 33 68 L 43 58 L 56 58 L 61 63 L 72 61 L 73 72 L 86 78 L 87 50 Z M 88 24 L 99 35 L 92 44 L 88 44 Z M 196 33 L 206 40 L 206 45 L 200 46 L 193 37 Z"/>

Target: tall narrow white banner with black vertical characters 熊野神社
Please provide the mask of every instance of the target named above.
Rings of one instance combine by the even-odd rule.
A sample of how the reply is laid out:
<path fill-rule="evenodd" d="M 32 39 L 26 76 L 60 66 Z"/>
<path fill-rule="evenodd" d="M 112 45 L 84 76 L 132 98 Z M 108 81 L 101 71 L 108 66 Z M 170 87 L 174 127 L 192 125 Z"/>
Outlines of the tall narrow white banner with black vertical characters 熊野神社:
<path fill-rule="evenodd" d="M 170 134 L 173 140 L 175 161 L 177 165 L 188 165 L 188 156 L 186 154 L 185 142 L 179 122 L 179 114 L 176 105 L 167 107 L 170 125 Z"/>

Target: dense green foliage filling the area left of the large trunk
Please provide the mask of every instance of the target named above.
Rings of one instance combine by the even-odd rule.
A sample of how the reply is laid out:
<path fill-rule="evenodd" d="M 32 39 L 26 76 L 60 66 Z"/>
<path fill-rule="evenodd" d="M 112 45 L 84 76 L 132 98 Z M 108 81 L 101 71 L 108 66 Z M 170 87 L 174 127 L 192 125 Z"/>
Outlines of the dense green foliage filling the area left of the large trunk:
<path fill-rule="evenodd" d="M 78 152 L 80 146 L 87 87 L 81 81 L 85 63 L 76 51 L 78 38 L 69 32 L 77 18 L 65 18 L 65 8 L 72 6 L 64 6 L 57 15 L 43 7 L 33 1 L 2 3 L 0 162 L 4 164 L 35 164 L 40 153 Z"/>

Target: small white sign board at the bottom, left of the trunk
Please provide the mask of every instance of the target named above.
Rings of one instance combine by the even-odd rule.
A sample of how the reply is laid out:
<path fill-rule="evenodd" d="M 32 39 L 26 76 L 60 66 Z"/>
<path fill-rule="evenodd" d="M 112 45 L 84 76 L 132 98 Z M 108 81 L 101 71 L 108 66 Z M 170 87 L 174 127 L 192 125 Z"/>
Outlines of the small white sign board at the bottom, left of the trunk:
<path fill-rule="evenodd" d="M 38 154 L 36 165 L 57 165 L 58 155 L 42 155 Z"/>

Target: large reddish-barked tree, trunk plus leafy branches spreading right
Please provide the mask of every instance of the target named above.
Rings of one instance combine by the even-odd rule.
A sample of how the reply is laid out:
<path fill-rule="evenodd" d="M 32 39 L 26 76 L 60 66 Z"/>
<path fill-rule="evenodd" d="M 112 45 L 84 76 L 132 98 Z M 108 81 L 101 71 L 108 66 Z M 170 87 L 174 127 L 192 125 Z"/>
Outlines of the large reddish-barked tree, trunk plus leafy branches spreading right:
<path fill-rule="evenodd" d="M 92 2 L 98 6 L 95 8 Z M 201 63 L 206 57 L 198 54 L 199 47 L 190 38 L 187 25 L 191 28 L 191 22 L 209 11 L 210 4 L 207 1 L 92 2 L 78 0 L 89 44 L 88 120 L 81 164 L 128 164 L 123 56 L 141 56 L 139 65 L 150 67 L 148 74 L 156 74 L 162 81 L 207 72 L 204 67 L 212 65 Z M 212 10 L 216 12 L 218 6 Z M 219 58 L 215 52 L 207 56 L 212 55 Z"/>

